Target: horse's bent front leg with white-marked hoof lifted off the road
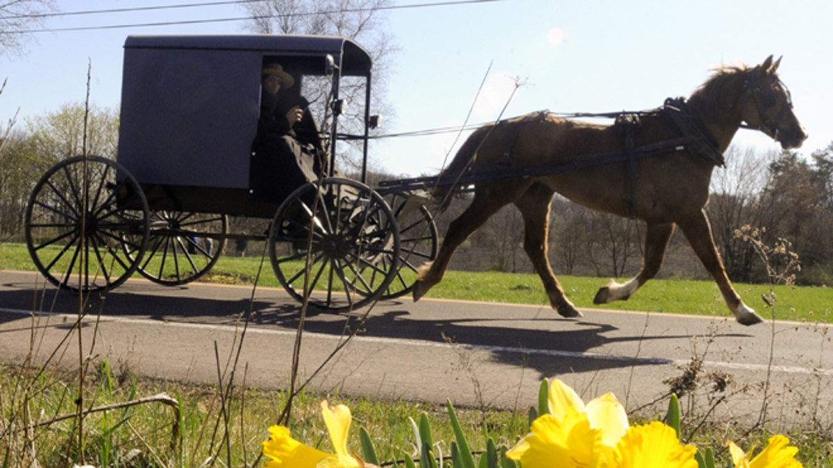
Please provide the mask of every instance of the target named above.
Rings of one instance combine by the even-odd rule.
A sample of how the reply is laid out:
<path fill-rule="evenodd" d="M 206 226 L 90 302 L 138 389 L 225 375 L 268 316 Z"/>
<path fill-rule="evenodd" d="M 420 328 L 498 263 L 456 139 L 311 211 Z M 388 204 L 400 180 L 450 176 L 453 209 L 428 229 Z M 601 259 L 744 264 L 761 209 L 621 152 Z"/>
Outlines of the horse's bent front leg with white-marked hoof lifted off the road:
<path fill-rule="evenodd" d="M 611 281 L 601 287 L 593 298 L 594 304 L 607 304 L 612 301 L 625 301 L 648 280 L 656 276 L 666 256 L 668 241 L 674 233 L 674 223 L 648 224 L 645 236 L 645 255 L 642 256 L 642 269 L 639 274 L 625 283 Z"/>

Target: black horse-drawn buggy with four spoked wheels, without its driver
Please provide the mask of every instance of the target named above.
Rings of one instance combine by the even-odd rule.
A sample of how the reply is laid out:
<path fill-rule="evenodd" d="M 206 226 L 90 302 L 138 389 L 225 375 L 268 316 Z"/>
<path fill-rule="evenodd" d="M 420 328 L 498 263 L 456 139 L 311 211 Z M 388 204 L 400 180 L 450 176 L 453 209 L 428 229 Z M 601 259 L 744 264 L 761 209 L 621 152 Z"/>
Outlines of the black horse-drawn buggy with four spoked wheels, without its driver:
<path fill-rule="evenodd" d="M 273 62 L 307 98 L 312 172 L 252 149 Z M 436 227 L 421 197 L 363 183 L 371 78 L 367 51 L 343 37 L 127 37 L 117 161 L 74 157 L 37 182 L 26 212 L 35 265 L 74 291 L 136 272 L 174 286 L 211 270 L 229 241 L 262 240 L 299 301 L 342 309 L 410 291 L 436 256 Z M 345 111 L 347 92 L 358 112 Z M 342 151 L 362 157 L 357 177 L 338 177 Z M 229 217 L 260 219 L 262 232 L 232 232 Z"/>

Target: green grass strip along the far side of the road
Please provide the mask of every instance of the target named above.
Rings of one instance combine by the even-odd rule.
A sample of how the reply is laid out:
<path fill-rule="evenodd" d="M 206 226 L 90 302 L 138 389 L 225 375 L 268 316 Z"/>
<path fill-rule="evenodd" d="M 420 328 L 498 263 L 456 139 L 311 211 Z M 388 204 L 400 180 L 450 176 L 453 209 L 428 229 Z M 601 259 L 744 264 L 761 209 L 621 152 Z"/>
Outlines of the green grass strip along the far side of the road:
<path fill-rule="evenodd" d="M 281 287 L 268 258 L 223 256 L 212 271 L 200 281 L 235 284 L 253 284 L 258 268 L 262 273 L 259 286 Z M 34 270 L 26 246 L 0 244 L 0 268 Z M 138 276 L 138 275 L 137 275 Z M 567 296 L 578 307 L 599 307 L 592 301 L 607 278 L 583 276 L 558 276 Z M 779 320 L 822 321 L 833 320 L 833 289 L 828 287 L 736 284 L 736 290 L 746 303 L 761 316 L 771 318 L 773 312 Z M 761 295 L 775 292 L 774 308 L 766 306 Z M 434 286 L 426 297 L 467 301 L 491 301 L 516 304 L 546 305 L 546 294 L 538 276 L 496 271 L 470 272 L 448 271 L 440 284 Z M 643 286 L 628 301 L 618 301 L 601 306 L 607 309 L 631 311 L 655 311 L 706 316 L 729 316 L 717 286 L 712 281 L 653 280 Z"/>

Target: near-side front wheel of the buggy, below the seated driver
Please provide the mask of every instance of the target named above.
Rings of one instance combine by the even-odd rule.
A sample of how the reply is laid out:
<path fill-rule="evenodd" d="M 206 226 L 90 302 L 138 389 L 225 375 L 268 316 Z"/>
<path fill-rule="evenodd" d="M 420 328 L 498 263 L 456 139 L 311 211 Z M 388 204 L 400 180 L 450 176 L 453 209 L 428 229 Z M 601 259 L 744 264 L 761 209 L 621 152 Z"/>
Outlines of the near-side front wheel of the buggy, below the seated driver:
<path fill-rule="evenodd" d="M 278 281 L 298 301 L 331 310 L 382 296 L 396 276 L 399 246 L 396 218 L 382 196 L 335 177 L 292 192 L 269 232 Z"/>

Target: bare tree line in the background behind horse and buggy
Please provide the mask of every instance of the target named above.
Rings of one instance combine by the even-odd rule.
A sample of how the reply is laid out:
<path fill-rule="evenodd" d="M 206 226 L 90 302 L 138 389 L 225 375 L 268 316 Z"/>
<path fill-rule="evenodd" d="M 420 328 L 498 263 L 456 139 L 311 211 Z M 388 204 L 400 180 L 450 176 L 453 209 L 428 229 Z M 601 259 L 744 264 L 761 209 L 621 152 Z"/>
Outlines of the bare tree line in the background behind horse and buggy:
<path fill-rule="evenodd" d="M 67 103 L 55 112 L 28 119 L 24 129 L 12 129 L 0 142 L 3 240 L 22 241 L 29 193 L 49 167 L 84 152 L 116 157 L 117 111 L 93 106 L 86 118 L 84 138 L 85 107 Z M 0 135 L 3 130 L 0 128 Z M 389 176 L 383 171 L 374 173 L 370 181 L 382 177 Z M 798 283 L 826 285 L 833 281 L 833 143 L 810 157 L 793 151 L 731 147 L 726 152 L 726 167 L 713 173 L 711 192 L 706 211 L 733 281 L 767 279 L 766 265 L 751 243 L 738 235 L 743 227 L 757 229 L 761 241 L 768 245 L 779 239 L 791 242 L 801 261 Z M 437 215 L 441 235 L 466 206 L 466 197 L 461 197 Z M 553 199 L 549 255 L 556 274 L 631 276 L 641 266 L 643 239 L 641 222 L 592 212 L 558 196 Z M 452 267 L 531 271 L 522 241 L 520 213 L 514 207 L 504 207 L 471 236 Z M 679 234 L 671 240 L 661 276 L 706 277 Z"/>

